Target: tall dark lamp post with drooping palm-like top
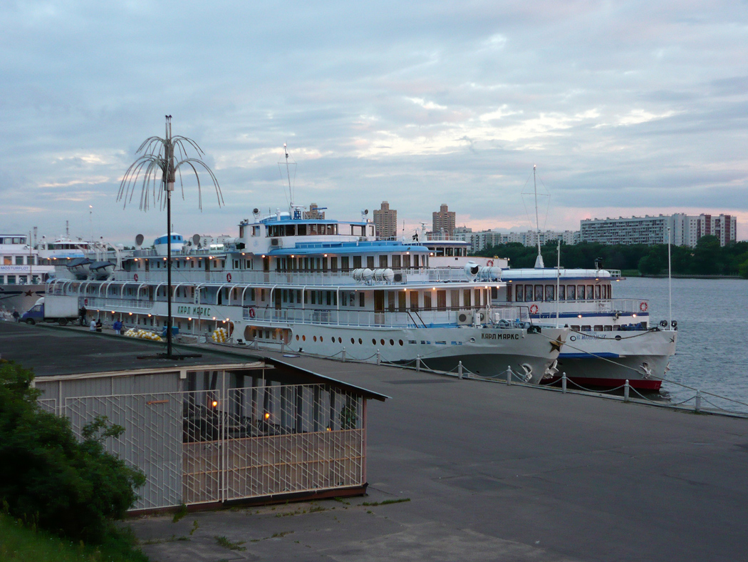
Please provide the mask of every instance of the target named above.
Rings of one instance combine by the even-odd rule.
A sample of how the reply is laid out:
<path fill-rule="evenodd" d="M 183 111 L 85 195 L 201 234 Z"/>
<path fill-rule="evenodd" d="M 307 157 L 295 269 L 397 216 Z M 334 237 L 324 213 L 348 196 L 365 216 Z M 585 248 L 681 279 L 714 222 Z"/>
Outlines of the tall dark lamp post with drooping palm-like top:
<path fill-rule="evenodd" d="M 188 157 L 188 148 L 197 152 L 197 158 Z M 175 156 L 175 150 L 177 156 Z M 123 202 L 123 207 L 132 203 L 132 196 L 140 184 L 142 177 L 140 209 L 147 211 L 150 205 L 159 203 L 161 208 L 166 207 L 166 253 L 167 253 L 167 324 L 166 324 L 166 354 L 161 356 L 165 359 L 180 359 L 185 355 L 174 355 L 171 351 L 171 193 L 174 191 L 177 174 L 180 177 L 180 187 L 182 188 L 182 199 L 184 199 L 184 184 L 182 181 L 182 166 L 188 166 L 191 172 L 197 178 L 197 198 L 200 211 L 203 209 L 203 194 L 200 185 L 200 174 L 198 169 L 212 181 L 215 188 L 215 195 L 218 197 L 218 206 L 224 205 L 224 196 L 221 194 L 221 187 L 218 185 L 218 179 L 215 174 L 199 157 L 205 153 L 192 139 L 186 136 L 171 136 L 171 115 L 166 115 L 166 134 L 162 139 L 159 136 L 151 136 L 145 139 L 136 153 L 142 153 L 135 162 L 125 172 L 120 191 L 117 194 L 117 201 Z M 177 161 L 179 157 L 179 161 Z M 159 178 L 160 175 L 160 178 Z M 156 188 L 156 184 L 159 187 Z M 165 195 L 164 195 L 165 194 Z"/>

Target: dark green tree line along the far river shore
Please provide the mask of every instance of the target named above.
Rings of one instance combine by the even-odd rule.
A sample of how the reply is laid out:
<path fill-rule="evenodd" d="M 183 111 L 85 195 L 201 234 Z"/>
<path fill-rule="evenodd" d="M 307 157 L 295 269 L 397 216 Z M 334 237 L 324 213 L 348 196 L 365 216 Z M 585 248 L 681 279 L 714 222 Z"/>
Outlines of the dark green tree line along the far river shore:
<path fill-rule="evenodd" d="M 553 240 L 541 247 L 547 268 L 557 264 L 557 244 Z M 740 275 L 748 279 L 748 242 L 720 247 L 716 236 L 702 236 L 695 248 L 672 246 L 670 251 L 673 274 Z M 510 268 L 532 268 L 538 249 L 513 242 L 488 247 L 476 255 L 509 258 Z M 596 259 L 606 269 L 638 270 L 642 275 L 666 274 L 667 244 L 561 244 L 562 268 L 593 268 Z"/>

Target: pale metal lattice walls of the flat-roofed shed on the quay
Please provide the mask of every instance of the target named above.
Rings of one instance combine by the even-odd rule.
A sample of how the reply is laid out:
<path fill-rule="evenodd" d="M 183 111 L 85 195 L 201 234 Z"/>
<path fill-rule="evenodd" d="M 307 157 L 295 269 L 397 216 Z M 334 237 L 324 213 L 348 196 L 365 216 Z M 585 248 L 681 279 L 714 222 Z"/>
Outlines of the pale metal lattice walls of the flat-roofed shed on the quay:
<path fill-rule="evenodd" d="M 102 415 L 125 428 L 105 447 L 146 474 L 135 510 L 364 484 L 364 399 L 327 385 L 64 402 L 79 437 Z"/>

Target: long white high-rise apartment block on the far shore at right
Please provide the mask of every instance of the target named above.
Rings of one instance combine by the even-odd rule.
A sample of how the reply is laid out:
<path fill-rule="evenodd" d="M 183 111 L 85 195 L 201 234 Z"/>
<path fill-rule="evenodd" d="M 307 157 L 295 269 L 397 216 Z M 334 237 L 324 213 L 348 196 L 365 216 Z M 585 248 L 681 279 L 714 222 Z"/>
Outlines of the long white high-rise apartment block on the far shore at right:
<path fill-rule="evenodd" d="M 699 238 L 714 235 L 724 246 L 737 237 L 737 220 L 726 214 L 683 213 L 657 217 L 619 217 L 617 219 L 584 219 L 580 221 L 580 238 L 583 242 L 599 244 L 667 244 L 668 229 L 672 244 L 695 247 Z"/>

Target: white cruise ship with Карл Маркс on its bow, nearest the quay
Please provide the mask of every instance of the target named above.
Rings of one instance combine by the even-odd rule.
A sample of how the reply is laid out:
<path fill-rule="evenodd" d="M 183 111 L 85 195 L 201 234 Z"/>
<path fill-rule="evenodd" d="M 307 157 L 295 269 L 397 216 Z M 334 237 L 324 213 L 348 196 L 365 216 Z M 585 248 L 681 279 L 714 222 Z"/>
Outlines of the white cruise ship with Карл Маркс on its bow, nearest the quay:
<path fill-rule="evenodd" d="M 202 244 L 171 234 L 174 327 L 227 327 L 236 344 L 322 357 L 458 368 L 499 375 L 507 366 L 538 383 L 550 373 L 568 328 L 516 321 L 495 308 L 500 268 L 432 268 L 429 249 L 378 241 L 373 223 L 304 218 L 302 208 L 242 220 L 236 238 Z M 167 263 L 161 250 L 122 256 L 106 279 L 58 269 L 48 298 L 75 298 L 102 320 L 158 329 L 167 318 Z M 93 276 L 92 276 L 93 277 Z M 527 318 L 526 318 L 527 320 Z"/>

